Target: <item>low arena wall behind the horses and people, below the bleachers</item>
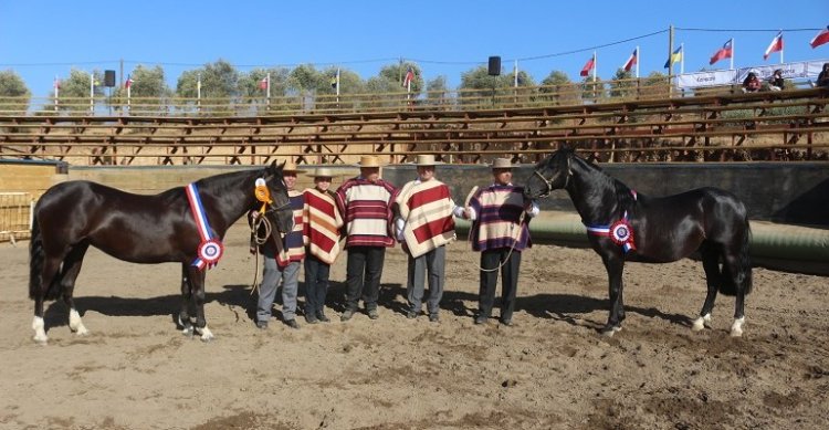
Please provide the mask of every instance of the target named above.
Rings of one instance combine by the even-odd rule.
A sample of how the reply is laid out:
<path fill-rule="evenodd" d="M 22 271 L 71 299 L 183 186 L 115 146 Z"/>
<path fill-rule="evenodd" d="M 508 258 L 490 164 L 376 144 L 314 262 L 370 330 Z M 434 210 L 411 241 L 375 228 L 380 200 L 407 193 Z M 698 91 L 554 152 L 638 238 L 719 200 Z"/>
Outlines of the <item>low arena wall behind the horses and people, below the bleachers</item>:
<path fill-rule="evenodd" d="M 665 196 L 697 187 L 718 187 L 743 199 L 755 220 L 829 226 L 829 166 L 826 162 L 762 164 L 615 164 L 605 171 L 649 196 Z M 234 171 L 238 166 L 69 167 L 55 164 L 0 164 L 0 192 L 25 191 L 36 199 L 46 188 L 66 179 L 86 179 L 137 193 L 156 193 L 199 178 Z M 312 167 L 307 167 L 311 169 Z M 358 172 L 356 166 L 333 166 L 334 185 Z M 533 166 L 517 167 L 516 183 L 532 175 Z M 395 185 L 413 179 L 414 167 L 386 166 L 384 177 Z M 478 185 L 491 183 L 490 168 L 481 165 L 439 166 L 438 177 L 450 185 L 458 203 Z M 312 185 L 300 176 L 298 187 Z M 541 201 L 542 209 L 573 211 L 566 192 Z"/>

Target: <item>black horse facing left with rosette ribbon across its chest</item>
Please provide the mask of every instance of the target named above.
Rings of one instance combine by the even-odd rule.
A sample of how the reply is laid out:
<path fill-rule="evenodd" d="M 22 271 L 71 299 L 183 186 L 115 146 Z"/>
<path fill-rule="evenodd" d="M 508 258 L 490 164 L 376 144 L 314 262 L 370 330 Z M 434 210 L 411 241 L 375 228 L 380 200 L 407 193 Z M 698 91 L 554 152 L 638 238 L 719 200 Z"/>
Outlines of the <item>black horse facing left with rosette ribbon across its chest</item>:
<path fill-rule="evenodd" d="M 667 263 L 694 251 L 702 256 L 709 290 L 693 329 L 701 331 L 711 322 L 718 290 L 736 295 L 731 334 L 743 334 L 744 300 L 752 291 L 751 228 L 745 204 L 734 195 L 717 188 L 697 188 L 662 198 L 647 197 L 569 148 L 541 161 L 524 192 L 538 198 L 559 188 L 570 196 L 587 227 L 590 245 L 608 273 L 610 317 L 601 329 L 604 334 L 612 336 L 625 319 L 622 270 L 627 258 Z"/>

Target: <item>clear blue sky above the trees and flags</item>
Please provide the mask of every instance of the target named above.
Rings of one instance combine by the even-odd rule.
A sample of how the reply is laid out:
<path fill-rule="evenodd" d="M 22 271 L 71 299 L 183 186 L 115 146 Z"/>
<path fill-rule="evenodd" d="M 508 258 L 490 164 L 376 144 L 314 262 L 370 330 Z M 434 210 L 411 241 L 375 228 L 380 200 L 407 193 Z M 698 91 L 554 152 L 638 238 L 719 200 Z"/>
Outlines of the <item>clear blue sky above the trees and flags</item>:
<path fill-rule="evenodd" d="M 678 28 L 674 46 L 684 43 L 685 72 L 727 69 L 727 60 L 709 66 L 709 59 L 731 38 L 735 67 L 778 62 L 778 54 L 763 60 L 777 29 L 788 30 L 786 62 L 829 59 L 829 44 L 808 44 L 814 29 L 829 25 L 827 0 L 0 0 L 0 70 L 15 71 L 42 97 L 55 75 L 73 67 L 117 72 L 122 59 L 125 74 L 137 64 L 161 65 L 175 87 L 182 71 L 219 59 L 242 72 L 338 65 L 368 78 L 402 57 L 427 80 L 444 75 L 455 87 L 490 55 L 502 57 L 505 73 L 518 59 L 536 82 L 554 70 L 579 80 L 591 48 L 611 44 L 597 49 L 599 76 L 610 77 L 637 45 L 647 75 L 665 71 L 669 25 Z"/>

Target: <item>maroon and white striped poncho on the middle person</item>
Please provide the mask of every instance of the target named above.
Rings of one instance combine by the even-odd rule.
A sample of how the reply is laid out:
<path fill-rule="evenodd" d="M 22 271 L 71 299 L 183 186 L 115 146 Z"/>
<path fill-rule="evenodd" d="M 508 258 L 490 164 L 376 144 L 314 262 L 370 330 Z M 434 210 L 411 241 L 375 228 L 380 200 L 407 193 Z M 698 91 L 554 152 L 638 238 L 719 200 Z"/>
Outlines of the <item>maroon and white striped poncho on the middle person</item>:
<path fill-rule="evenodd" d="M 396 195 L 395 186 L 382 179 L 371 182 L 357 177 L 339 186 L 337 209 L 346 224 L 346 248 L 395 245 L 390 227 Z"/>

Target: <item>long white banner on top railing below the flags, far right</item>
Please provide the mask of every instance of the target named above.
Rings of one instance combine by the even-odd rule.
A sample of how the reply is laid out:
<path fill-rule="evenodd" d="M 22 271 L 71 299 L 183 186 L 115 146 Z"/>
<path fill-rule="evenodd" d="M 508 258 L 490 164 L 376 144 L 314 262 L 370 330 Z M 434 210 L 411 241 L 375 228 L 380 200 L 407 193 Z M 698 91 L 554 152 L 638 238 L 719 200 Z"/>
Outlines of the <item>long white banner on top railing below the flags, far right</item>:
<path fill-rule="evenodd" d="M 739 84 L 749 72 L 754 72 L 760 81 L 767 80 L 777 69 L 783 71 L 785 80 L 815 78 L 829 60 L 811 60 L 797 63 L 758 65 L 737 70 L 715 70 L 710 72 L 683 73 L 676 75 L 676 86 L 680 88 L 701 88 Z"/>

